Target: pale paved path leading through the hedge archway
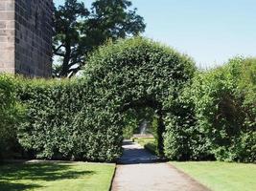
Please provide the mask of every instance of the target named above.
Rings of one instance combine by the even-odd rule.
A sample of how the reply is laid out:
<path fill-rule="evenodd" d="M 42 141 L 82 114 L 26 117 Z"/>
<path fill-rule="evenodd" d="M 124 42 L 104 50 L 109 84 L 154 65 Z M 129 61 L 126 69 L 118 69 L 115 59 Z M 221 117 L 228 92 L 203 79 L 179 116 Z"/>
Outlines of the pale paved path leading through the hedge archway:
<path fill-rule="evenodd" d="M 157 158 L 137 143 L 125 141 L 125 151 L 112 184 L 112 191 L 206 191 L 196 180 Z"/>

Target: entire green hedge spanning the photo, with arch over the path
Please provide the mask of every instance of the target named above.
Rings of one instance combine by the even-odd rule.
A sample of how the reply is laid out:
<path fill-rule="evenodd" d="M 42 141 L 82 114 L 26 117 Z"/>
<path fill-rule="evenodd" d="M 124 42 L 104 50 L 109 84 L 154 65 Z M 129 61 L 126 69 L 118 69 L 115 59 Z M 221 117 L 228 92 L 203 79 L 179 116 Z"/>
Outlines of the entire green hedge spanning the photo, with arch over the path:
<path fill-rule="evenodd" d="M 124 127 L 147 119 L 160 156 L 256 160 L 253 58 L 196 72 L 188 56 L 136 37 L 92 53 L 81 78 L 0 75 L 0 88 L 0 146 L 17 137 L 37 159 L 117 159 Z"/>

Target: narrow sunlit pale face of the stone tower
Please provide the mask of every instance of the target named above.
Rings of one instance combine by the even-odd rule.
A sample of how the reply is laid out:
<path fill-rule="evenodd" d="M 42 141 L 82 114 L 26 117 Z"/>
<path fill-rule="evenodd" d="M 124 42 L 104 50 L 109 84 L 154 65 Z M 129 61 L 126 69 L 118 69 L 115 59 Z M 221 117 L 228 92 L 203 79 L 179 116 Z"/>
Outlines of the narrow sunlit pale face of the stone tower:
<path fill-rule="evenodd" d="M 0 73 L 14 74 L 14 0 L 0 0 Z"/>

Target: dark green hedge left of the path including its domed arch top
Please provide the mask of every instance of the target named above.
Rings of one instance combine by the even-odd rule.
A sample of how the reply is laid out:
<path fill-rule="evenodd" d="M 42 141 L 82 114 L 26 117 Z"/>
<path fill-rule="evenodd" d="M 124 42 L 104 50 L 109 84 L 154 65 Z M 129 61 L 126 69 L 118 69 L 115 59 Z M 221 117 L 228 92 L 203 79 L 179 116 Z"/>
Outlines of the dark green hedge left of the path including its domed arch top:
<path fill-rule="evenodd" d="M 117 159 L 126 111 L 147 106 L 163 116 L 166 97 L 195 70 L 188 56 L 148 39 L 110 42 L 90 56 L 80 79 L 22 84 L 19 142 L 37 159 Z"/>

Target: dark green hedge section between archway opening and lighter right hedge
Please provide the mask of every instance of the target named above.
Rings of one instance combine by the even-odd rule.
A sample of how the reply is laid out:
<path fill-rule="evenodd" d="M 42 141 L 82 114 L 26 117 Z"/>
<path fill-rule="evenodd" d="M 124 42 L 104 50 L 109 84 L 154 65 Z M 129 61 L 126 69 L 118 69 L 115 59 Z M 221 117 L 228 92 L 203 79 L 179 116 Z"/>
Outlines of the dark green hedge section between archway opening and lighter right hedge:
<path fill-rule="evenodd" d="M 180 91 L 180 96 L 170 102 L 164 134 L 165 155 L 175 160 L 214 159 L 209 151 L 209 142 L 204 132 L 197 128 L 195 102 L 192 99 L 192 84 Z"/>

